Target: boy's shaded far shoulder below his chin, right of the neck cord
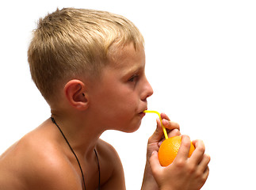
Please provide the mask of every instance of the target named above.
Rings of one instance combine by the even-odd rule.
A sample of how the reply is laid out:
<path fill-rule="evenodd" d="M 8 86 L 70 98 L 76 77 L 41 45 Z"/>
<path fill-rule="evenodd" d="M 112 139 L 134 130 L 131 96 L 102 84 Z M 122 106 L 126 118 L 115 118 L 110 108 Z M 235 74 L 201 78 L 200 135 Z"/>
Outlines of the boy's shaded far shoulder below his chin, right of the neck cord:
<path fill-rule="evenodd" d="M 101 189 L 125 189 L 124 169 L 117 151 L 101 139 L 96 148 L 101 166 Z"/>

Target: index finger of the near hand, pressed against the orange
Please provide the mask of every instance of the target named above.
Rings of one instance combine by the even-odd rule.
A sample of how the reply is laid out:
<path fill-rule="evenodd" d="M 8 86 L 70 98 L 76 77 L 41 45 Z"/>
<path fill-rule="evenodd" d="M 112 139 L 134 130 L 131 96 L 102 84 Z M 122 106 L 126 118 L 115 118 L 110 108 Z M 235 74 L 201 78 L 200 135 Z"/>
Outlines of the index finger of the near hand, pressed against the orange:
<path fill-rule="evenodd" d="M 189 136 L 182 135 L 181 146 L 180 146 L 180 149 L 178 150 L 178 154 L 177 154 L 176 158 L 174 159 L 174 162 L 175 161 L 185 161 L 188 159 L 190 144 L 191 144 L 191 141 L 190 141 Z"/>

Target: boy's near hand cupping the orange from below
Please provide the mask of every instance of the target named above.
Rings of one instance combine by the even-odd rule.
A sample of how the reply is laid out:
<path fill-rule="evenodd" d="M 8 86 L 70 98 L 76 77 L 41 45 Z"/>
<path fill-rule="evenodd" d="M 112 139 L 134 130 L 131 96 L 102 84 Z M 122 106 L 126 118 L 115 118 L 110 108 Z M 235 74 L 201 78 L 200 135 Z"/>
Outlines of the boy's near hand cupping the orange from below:
<path fill-rule="evenodd" d="M 154 151 L 150 158 L 151 171 L 161 190 L 197 190 L 208 178 L 210 157 L 204 154 L 204 142 L 193 141 L 195 150 L 188 158 L 190 139 L 182 135 L 181 147 L 174 162 L 167 167 L 159 163 L 158 154 Z"/>

